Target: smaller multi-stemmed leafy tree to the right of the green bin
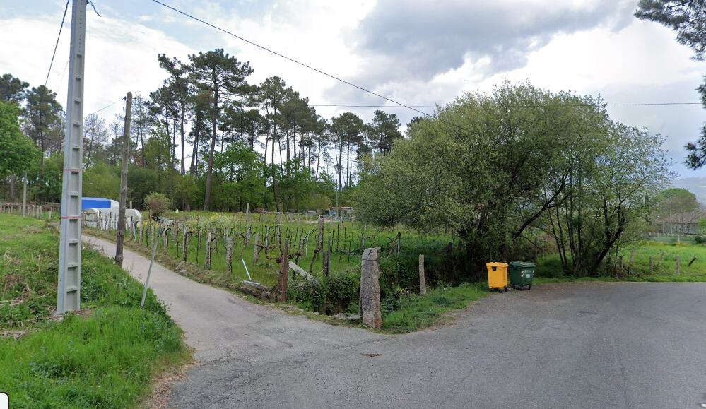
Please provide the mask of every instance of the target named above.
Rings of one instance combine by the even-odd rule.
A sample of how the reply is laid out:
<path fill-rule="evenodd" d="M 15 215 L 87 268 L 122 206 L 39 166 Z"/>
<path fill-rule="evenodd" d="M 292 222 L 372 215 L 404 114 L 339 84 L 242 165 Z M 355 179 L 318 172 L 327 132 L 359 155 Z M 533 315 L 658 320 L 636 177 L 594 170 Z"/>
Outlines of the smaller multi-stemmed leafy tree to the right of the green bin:
<path fill-rule="evenodd" d="M 565 272 L 596 276 L 641 238 L 654 196 L 669 179 L 664 139 L 612 121 L 583 138 L 558 205 L 543 215 Z"/>

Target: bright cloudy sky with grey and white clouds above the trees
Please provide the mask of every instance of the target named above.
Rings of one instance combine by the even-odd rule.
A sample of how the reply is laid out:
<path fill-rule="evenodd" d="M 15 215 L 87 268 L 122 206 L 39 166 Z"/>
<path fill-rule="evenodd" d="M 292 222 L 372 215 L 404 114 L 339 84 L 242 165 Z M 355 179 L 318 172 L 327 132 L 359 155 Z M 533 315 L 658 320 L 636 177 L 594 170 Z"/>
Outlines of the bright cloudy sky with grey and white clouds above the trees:
<path fill-rule="evenodd" d="M 637 0 L 163 0 L 247 40 L 407 105 L 445 105 L 488 93 L 502 81 L 601 96 L 608 104 L 699 102 L 706 64 L 675 33 L 633 16 Z M 0 74 L 32 86 L 47 77 L 64 0 L 0 0 Z M 249 61 L 259 83 L 281 76 L 312 105 L 392 105 L 151 0 L 93 0 L 86 39 L 84 113 L 122 112 L 127 91 L 148 95 L 167 77 L 157 54 L 224 48 Z M 71 6 L 47 86 L 66 104 Z M 346 110 L 372 119 L 375 108 Z M 433 108 L 418 108 L 432 113 Z M 384 108 L 405 124 L 418 115 Z M 683 146 L 704 123 L 700 105 L 609 107 L 630 126 L 666 137 L 678 177 L 706 177 L 683 165 Z"/>

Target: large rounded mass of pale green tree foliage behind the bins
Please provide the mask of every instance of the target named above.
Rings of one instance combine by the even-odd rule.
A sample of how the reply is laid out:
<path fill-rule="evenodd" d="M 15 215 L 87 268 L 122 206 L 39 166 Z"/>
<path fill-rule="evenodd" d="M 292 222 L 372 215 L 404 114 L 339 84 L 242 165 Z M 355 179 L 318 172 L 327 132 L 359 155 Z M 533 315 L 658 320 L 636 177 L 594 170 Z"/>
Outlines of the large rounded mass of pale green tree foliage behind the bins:
<path fill-rule="evenodd" d="M 469 278 L 487 261 L 508 259 L 527 230 L 546 226 L 542 216 L 558 209 L 570 214 L 568 223 L 585 223 L 570 237 L 558 235 L 559 243 L 572 247 L 590 225 L 611 236 L 611 249 L 642 214 L 639 195 L 654 193 L 666 172 L 657 139 L 614 124 L 589 97 L 505 83 L 490 95 L 460 97 L 437 118 L 412 124 L 389 155 L 365 163 L 356 213 L 382 225 L 453 230 L 465 244 Z M 592 206 L 576 206 L 589 195 L 597 198 Z M 591 218 L 576 214 L 589 208 Z M 587 258 L 602 263 L 596 254 Z"/>

